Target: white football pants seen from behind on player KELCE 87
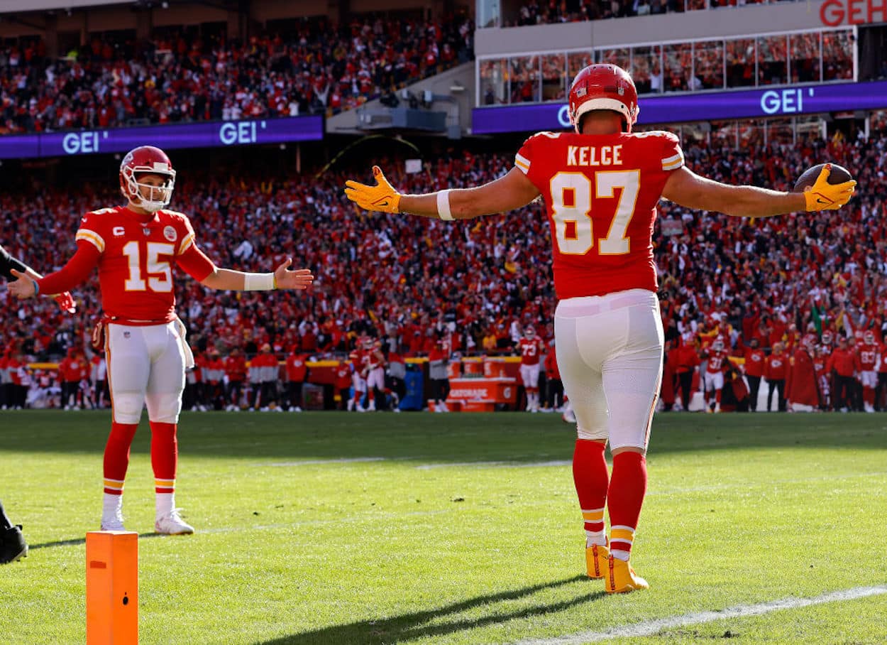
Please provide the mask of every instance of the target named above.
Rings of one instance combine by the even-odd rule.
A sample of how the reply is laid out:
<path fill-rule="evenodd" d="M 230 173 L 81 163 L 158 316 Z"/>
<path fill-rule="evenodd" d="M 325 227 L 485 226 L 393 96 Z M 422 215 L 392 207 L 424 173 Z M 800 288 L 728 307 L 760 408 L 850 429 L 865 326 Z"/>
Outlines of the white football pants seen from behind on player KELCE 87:
<path fill-rule="evenodd" d="M 632 289 L 561 300 L 554 338 L 579 438 L 646 450 L 663 372 L 656 294 Z"/>

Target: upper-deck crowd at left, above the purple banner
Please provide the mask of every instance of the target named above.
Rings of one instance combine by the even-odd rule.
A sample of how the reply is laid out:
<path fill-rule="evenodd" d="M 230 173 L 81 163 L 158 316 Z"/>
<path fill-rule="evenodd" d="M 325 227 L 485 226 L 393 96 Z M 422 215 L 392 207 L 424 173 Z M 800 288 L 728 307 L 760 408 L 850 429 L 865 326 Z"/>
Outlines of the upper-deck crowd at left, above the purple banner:
<path fill-rule="evenodd" d="M 473 35 L 467 18 L 311 19 L 246 42 L 95 36 L 58 60 L 22 40 L 0 45 L 0 134 L 336 114 L 473 60 Z"/>

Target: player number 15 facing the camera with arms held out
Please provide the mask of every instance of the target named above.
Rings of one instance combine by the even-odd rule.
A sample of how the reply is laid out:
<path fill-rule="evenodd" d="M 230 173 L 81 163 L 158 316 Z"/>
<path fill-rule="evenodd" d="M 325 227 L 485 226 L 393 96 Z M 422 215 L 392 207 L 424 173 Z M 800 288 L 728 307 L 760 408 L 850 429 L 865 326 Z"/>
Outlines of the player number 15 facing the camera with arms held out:
<path fill-rule="evenodd" d="M 194 366 L 176 316 L 173 265 L 210 289 L 271 291 L 306 289 L 310 270 L 290 271 L 287 259 L 274 273 L 218 268 L 194 242 L 191 222 L 169 211 L 176 181 L 169 157 L 142 146 L 123 157 L 120 189 L 125 206 L 91 211 L 77 230 L 77 251 L 65 267 L 39 280 L 13 271 L 10 291 L 19 298 L 73 289 L 98 267 L 104 309 L 98 344 L 106 349 L 113 422 L 105 448 L 102 530 L 124 530 L 123 480 L 130 443 L 142 406 L 151 422 L 151 462 L 159 533 L 192 533 L 175 506 L 177 423 L 182 410 L 184 370 Z"/>

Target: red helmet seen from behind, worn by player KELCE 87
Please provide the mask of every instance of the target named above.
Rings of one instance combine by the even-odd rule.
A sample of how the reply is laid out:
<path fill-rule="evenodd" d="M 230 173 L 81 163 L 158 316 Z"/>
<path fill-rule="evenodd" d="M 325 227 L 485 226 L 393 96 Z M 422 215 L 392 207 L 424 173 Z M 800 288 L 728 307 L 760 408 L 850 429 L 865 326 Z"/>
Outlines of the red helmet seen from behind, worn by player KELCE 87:
<path fill-rule="evenodd" d="M 638 90 L 632 77 L 616 65 L 589 65 L 569 88 L 569 122 L 579 131 L 579 117 L 590 110 L 614 110 L 625 118 L 625 131 L 638 121 Z"/>

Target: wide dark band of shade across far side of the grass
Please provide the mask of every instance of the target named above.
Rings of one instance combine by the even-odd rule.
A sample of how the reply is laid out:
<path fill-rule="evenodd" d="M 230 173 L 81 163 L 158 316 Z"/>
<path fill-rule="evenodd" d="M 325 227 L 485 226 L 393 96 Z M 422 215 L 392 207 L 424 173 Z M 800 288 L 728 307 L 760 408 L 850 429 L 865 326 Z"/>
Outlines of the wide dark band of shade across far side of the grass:
<path fill-rule="evenodd" d="M 179 426 L 183 457 L 271 459 L 287 466 L 325 459 L 420 464 L 566 461 L 576 438 L 575 427 L 563 423 L 560 415 L 511 412 L 191 412 L 182 415 Z M 4 450 L 90 454 L 100 469 L 109 427 L 108 410 L 0 412 L 0 461 Z M 133 451 L 147 453 L 150 437 L 143 419 Z M 887 450 L 887 415 L 657 414 L 650 454 L 805 447 Z"/>

